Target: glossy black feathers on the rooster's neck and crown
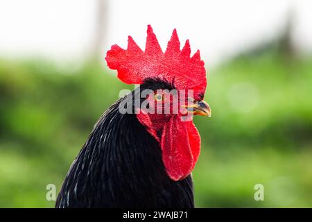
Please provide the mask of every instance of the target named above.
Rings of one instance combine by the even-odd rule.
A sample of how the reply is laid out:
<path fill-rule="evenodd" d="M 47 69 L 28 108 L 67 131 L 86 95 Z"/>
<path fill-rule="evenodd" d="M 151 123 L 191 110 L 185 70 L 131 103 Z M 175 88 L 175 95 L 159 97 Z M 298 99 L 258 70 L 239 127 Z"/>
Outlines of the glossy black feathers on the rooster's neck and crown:
<path fill-rule="evenodd" d="M 148 79 L 143 89 L 172 89 Z M 136 89 L 132 94 L 139 93 Z M 158 142 L 116 101 L 96 123 L 71 164 L 55 207 L 193 207 L 191 176 L 168 178 Z M 140 100 L 141 102 L 141 100 Z"/>

